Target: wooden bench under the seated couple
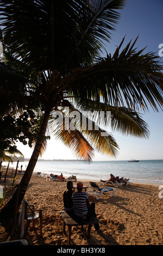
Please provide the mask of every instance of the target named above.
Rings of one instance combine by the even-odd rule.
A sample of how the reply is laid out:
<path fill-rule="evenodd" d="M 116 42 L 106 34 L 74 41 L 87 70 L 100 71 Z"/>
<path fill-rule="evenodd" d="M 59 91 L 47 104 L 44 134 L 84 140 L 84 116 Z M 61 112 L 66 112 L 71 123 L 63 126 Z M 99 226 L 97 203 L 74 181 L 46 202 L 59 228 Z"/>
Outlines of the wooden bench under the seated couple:
<path fill-rule="evenodd" d="M 69 214 L 65 211 L 59 211 L 59 213 L 63 218 L 63 232 L 65 232 L 65 226 L 68 226 L 68 244 L 70 244 L 71 240 L 72 226 L 81 225 L 83 228 L 83 225 L 88 225 L 87 238 L 89 238 L 92 224 L 99 222 L 98 218 L 96 218 L 95 216 L 91 216 L 86 220 L 81 220 L 80 218 L 76 217 L 72 212 Z"/>

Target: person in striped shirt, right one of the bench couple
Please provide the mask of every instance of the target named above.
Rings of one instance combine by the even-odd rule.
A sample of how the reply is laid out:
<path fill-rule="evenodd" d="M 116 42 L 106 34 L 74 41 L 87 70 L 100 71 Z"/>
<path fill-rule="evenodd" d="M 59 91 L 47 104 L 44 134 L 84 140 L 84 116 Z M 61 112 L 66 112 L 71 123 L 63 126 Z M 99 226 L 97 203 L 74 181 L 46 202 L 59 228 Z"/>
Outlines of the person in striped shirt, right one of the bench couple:
<path fill-rule="evenodd" d="M 82 220 L 85 220 L 87 217 L 95 216 L 95 203 L 91 203 L 89 201 L 89 197 L 87 196 L 86 192 L 82 191 L 83 189 L 83 183 L 79 182 L 77 183 L 77 192 L 73 193 L 72 200 L 74 205 L 74 213 L 77 217 L 82 218 Z M 95 223 L 94 227 L 96 231 L 100 231 L 99 224 Z"/>

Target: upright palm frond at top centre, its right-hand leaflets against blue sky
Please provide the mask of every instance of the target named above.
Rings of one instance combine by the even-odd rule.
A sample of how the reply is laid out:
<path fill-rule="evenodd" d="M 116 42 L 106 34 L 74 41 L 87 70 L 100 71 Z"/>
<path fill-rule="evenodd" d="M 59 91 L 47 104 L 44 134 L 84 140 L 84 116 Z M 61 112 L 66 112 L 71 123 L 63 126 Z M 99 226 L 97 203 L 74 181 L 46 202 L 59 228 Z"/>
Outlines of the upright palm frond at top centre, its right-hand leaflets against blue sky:
<path fill-rule="evenodd" d="M 77 66 L 88 65 L 95 57 L 99 56 L 104 41 L 110 40 L 111 31 L 115 30 L 115 25 L 120 19 L 120 14 L 116 10 L 122 9 L 125 2 L 117 0 L 89 1 L 89 4 L 79 11 L 73 32 L 76 47 L 73 47 L 71 51 L 71 62 L 72 60 L 74 62 L 74 59 L 79 59 L 80 63 Z"/>

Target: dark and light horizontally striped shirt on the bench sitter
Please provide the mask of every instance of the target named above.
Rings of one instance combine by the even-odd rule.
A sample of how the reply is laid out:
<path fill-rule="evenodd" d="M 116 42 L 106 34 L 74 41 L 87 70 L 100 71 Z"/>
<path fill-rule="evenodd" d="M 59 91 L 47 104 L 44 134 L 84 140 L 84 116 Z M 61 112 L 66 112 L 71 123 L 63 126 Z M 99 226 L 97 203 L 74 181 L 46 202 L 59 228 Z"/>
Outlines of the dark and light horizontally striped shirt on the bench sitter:
<path fill-rule="evenodd" d="M 87 204 L 86 200 L 89 197 L 85 192 L 76 192 L 72 195 L 73 205 L 74 205 L 74 212 L 78 217 L 83 217 L 87 214 Z"/>

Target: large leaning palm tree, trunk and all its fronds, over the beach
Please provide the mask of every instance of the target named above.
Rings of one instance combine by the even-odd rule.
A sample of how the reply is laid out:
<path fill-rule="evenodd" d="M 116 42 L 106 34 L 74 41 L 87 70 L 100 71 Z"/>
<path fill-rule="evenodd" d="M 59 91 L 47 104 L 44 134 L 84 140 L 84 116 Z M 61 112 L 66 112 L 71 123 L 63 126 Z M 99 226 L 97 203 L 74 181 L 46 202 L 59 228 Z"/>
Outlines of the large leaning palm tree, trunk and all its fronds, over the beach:
<path fill-rule="evenodd" d="M 110 41 L 124 6 L 120 0 L 3 0 L 0 4 L 5 64 L 25 74 L 30 94 L 43 105 L 40 133 L 20 183 L 21 204 L 39 157 L 48 123 L 52 132 L 82 159 L 90 161 L 93 148 L 116 156 L 118 145 L 109 132 L 99 127 L 109 125 L 125 135 L 148 137 L 147 124 L 136 113 L 147 110 L 147 103 L 162 107 L 162 66 L 153 53 L 136 51 L 133 44 L 123 49 L 123 40 L 113 56 L 101 57 L 104 41 Z M 10 57 L 9 57 L 10 56 Z M 104 111 L 95 119 L 92 130 L 54 129 L 61 113 L 65 128 L 67 111 L 80 117 L 90 111 Z M 111 119 L 106 112 L 111 112 Z M 72 124 L 71 123 L 71 124 Z M 101 136 L 105 132 L 105 136 Z"/>

